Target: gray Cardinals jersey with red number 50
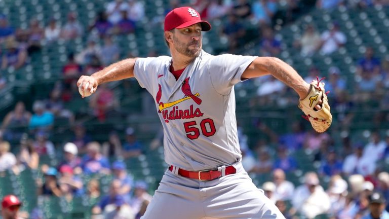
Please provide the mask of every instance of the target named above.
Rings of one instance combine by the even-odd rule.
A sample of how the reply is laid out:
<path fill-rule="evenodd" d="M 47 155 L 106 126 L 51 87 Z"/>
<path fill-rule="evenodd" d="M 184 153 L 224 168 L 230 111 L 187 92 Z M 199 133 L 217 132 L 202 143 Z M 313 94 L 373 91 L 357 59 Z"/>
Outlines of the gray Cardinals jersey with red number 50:
<path fill-rule="evenodd" d="M 169 71 L 171 57 L 136 60 L 134 76 L 154 97 L 164 127 L 168 164 L 199 171 L 242 158 L 232 88 L 255 58 L 201 51 L 178 80 Z"/>

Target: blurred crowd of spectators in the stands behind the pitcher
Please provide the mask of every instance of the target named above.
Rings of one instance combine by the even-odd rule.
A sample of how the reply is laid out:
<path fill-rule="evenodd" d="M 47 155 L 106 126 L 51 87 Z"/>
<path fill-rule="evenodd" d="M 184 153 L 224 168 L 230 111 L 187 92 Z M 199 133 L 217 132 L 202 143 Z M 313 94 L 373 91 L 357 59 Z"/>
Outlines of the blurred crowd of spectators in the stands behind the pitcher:
<path fill-rule="evenodd" d="M 278 57 L 283 52 L 284 42 L 277 37 L 277 30 L 308 10 L 333 10 L 339 6 L 363 10 L 376 5 L 388 6 L 389 1 L 193 0 L 191 5 L 203 19 L 225 21 L 219 36 L 228 39 L 228 46 L 222 52 L 239 52 L 249 39 L 259 45 L 257 55 Z M 179 6 L 180 1 L 171 0 L 164 13 Z M 22 69 L 31 56 L 57 41 L 83 39 L 86 45 L 80 51 L 68 51 L 67 61 L 62 67 L 62 80 L 55 84 L 46 98 L 37 99 L 27 106 L 22 101 L 17 102 L 4 117 L 0 130 L 0 172 L 20 174 L 27 169 L 42 172 L 42 177 L 36 176 L 35 181 L 39 197 L 63 197 L 70 201 L 73 197 L 88 196 L 95 200 L 94 215 L 140 218 L 151 199 L 149 185 L 134 180 L 125 161 L 138 157 L 145 149 L 158 147 L 161 143 L 155 141 L 159 141 L 161 135 L 147 147 L 137 140 L 134 128 L 128 127 L 106 133 L 106 141 L 98 142 L 88 133 L 79 116 L 66 105 L 79 95 L 76 81 L 81 75 L 91 75 L 121 58 L 134 56 L 123 51 L 115 43 L 115 37 L 136 31 L 144 16 L 144 5 L 137 0 L 108 2 L 90 26 L 83 26 L 73 12 L 67 15 L 64 24 L 54 18 L 47 24 L 31 19 L 26 28 L 12 26 L 7 16 L 0 16 L 2 70 Z M 161 24 L 162 20 L 156 19 L 155 22 Z M 248 31 L 248 24 L 255 27 L 254 34 Z M 314 25 L 307 25 L 293 47 L 300 51 L 301 57 L 330 55 L 342 48 L 347 40 L 351 39 L 347 39 L 337 22 L 323 32 Z M 149 55 L 163 54 L 150 51 Z M 352 84 L 342 75 L 339 66 L 321 72 L 312 65 L 304 80 L 310 83 L 316 76 L 323 75 L 328 76 L 324 82 L 326 90 L 331 91 L 328 95 L 332 111 L 336 113 L 334 129 L 348 130 L 356 119 L 353 110 L 368 107 L 365 103 L 371 101 L 376 104 L 370 107 L 379 109 L 371 116 L 372 122 L 389 121 L 389 115 L 383 113 L 389 109 L 389 56 L 377 57 L 373 48 L 366 48 L 357 63 Z M 287 87 L 273 77 L 265 76 L 245 83 L 256 88 L 256 96 L 250 99 L 253 108 L 271 104 L 281 107 L 295 105 L 294 97 L 287 95 Z M 0 89 L 6 84 L 7 79 L 0 76 Z M 353 93 L 349 91 L 350 87 L 354 88 Z M 99 86 L 88 101 L 89 115 L 99 122 L 109 121 L 121 111 L 118 97 L 107 85 Z M 32 112 L 28 111 L 29 108 Z M 70 124 L 71 141 L 61 144 L 51 141 L 58 128 L 55 127 L 57 119 Z M 375 218 L 377 212 L 386 212 L 386 200 L 389 200 L 389 174 L 385 166 L 389 162 L 387 134 L 370 130 L 366 135 L 369 136 L 368 142 L 352 142 L 345 136 L 341 139 L 341 147 L 335 148 L 329 134 L 315 133 L 298 122 L 291 126 L 291 132 L 275 133 L 266 124 L 258 122 L 258 131 L 265 133 L 268 140 L 259 139 L 250 147 L 242 129 L 239 136 L 245 169 L 253 176 L 271 172 L 271 181 L 263 185 L 261 182 L 258 186 L 286 218 L 295 218 L 296 215 L 297 218 L 314 218 L 321 214 L 332 218 L 365 218 L 370 213 L 371 218 Z M 301 173 L 303 167 L 298 162 L 301 155 L 307 159 L 305 167 L 309 166 L 317 173 Z M 47 159 L 59 162 L 49 165 L 43 162 Z M 91 179 L 85 180 L 84 176 Z M 100 185 L 99 178 L 103 176 L 112 176 L 107 191 Z M 288 176 L 299 180 L 288 181 Z M 42 218 L 42 209 L 34 209 L 30 218 Z"/>

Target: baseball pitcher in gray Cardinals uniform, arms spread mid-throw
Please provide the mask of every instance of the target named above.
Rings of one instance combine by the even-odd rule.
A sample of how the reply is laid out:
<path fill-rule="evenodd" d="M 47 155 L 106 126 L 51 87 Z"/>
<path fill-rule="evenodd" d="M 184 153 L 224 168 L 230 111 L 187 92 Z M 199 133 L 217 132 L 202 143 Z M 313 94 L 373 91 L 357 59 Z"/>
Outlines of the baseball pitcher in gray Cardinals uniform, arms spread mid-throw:
<path fill-rule="evenodd" d="M 122 60 L 77 82 L 90 94 L 135 77 L 155 99 L 169 168 L 142 219 L 284 218 L 242 167 L 233 88 L 271 74 L 297 92 L 305 118 L 325 131 L 331 118 L 324 84 L 305 83 L 278 58 L 208 54 L 202 31 L 211 25 L 190 7 L 168 13 L 164 29 L 171 57 Z"/>

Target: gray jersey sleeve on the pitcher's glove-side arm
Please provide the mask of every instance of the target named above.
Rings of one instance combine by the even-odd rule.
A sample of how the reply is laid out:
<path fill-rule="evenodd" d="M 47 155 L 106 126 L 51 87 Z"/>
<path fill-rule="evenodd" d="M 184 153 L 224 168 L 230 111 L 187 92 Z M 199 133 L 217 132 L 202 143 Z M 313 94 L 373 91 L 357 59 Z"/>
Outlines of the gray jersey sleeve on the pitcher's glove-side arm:
<path fill-rule="evenodd" d="M 246 68 L 256 56 L 223 54 L 215 56 L 209 64 L 211 83 L 220 95 L 228 95 L 232 86 L 241 82 Z"/>

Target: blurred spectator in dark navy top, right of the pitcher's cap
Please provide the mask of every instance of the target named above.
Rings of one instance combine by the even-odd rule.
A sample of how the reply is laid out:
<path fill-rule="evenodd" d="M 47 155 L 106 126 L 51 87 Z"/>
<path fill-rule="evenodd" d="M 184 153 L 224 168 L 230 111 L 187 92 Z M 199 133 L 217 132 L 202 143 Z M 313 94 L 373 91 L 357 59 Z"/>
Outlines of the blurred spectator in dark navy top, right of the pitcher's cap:
<path fill-rule="evenodd" d="M 242 43 L 241 40 L 246 34 L 244 26 L 238 21 L 234 14 L 228 15 L 228 21 L 225 23 L 222 33 L 228 38 L 229 51 L 234 51 Z"/>

